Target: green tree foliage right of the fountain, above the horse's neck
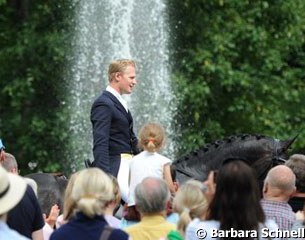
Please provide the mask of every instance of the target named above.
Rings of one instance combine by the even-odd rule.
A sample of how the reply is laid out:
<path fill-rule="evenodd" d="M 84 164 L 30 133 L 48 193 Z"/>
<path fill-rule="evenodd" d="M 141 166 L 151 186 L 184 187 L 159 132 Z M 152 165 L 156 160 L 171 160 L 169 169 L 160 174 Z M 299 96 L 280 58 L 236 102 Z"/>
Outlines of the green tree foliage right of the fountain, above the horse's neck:
<path fill-rule="evenodd" d="M 305 145 L 305 2 L 169 1 L 180 154 L 261 133 Z"/>

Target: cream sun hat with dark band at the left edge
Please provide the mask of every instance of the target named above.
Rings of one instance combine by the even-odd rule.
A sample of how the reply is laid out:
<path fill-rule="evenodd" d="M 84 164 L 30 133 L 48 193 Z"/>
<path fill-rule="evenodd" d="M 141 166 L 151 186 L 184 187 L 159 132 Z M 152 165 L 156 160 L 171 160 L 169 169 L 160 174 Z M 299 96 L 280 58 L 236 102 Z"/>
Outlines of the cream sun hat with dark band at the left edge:
<path fill-rule="evenodd" d="M 0 218 L 6 221 L 6 214 L 22 199 L 26 182 L 19 176 L 8 173 L 0 166 Z"/>

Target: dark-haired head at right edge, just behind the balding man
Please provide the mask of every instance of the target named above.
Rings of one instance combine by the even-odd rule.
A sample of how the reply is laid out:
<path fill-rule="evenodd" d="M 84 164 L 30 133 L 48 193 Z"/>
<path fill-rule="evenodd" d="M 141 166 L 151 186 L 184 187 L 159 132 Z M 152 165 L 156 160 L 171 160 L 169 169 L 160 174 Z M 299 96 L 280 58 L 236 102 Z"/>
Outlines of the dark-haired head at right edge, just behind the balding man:
<path fill-rule="evenodd" d="M 285 163 L 296 176 L 296 188 L 298 192 L 305 193 L 305 155 L 293 154 Z"/>

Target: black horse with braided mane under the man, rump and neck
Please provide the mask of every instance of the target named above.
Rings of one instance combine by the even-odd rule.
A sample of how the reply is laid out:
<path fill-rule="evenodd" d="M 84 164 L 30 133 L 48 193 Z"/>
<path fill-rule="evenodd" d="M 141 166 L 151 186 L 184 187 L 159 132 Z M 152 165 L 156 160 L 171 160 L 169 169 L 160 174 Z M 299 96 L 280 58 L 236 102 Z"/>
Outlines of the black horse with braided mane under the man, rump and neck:
<path fill-rule="evenodd" d="M 295 139 L 281 141 L 258 134 L 243 134 L 215 141 L 174 161 L 176 179 L 180 184 L 190 178 L 204 181 L 211 170 L 218 170 L 225 162 L 243 160 L 255 169 L 261 183 L 271 167 L 285 162 Z M 63 209 L 68 181 L 63 175 L 33 173 L 26 177 L 36 181 L 38 200 L 44 213 L 48 214 L 54 204 Z"/>

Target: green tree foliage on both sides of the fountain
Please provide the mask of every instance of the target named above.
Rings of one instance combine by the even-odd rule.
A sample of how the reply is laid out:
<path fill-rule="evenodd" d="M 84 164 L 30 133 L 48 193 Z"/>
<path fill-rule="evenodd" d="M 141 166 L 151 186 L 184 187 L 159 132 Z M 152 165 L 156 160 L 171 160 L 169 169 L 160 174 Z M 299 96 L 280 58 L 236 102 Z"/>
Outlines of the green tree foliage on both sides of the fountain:
<path fill-rule="evenodd" d="M 0 0 L 0 137 L 23 174 L 69 167 L 64 76 L 77 2 Z M 303 151 L 305 2 L 167 4 L 177 154 L 239 133 L 300 133 Z"/>

